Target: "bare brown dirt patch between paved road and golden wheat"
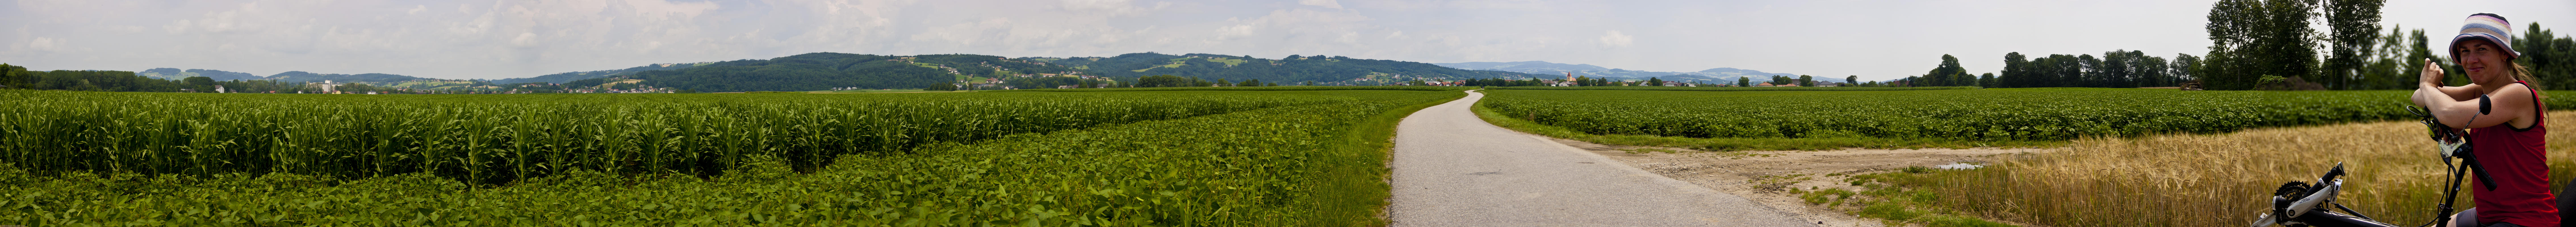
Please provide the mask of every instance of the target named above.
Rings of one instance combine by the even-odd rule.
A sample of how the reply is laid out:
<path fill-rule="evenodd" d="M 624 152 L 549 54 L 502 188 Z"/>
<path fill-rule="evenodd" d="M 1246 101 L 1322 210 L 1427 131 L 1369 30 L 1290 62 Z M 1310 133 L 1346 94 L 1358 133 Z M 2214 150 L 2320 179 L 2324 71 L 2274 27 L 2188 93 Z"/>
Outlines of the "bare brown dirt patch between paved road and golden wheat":
<path fill-rule="evenodd" d="M 1839 209 L 1857 206 L 1824 206 L 1806 204 L 1801 191 L 1819 188 L 1844 188 L 1847 175 L 1860 173 L 1886 173 L 1909 165 L 1955 165 L 1955 163 L 1991 163 L 2009 152 L 2048 152 L 2048 150 L 1775 150 L 1775 152 L 1700 152 L 1682 147 L 1625 147 L 1625 144 L 1592 144 L 1579 139 L 1556 139 L 1558 144 L 1589 150 L 1595 155 L 1620 160 L 1638 170 L 1649 170 L 1672 181 L 1708 186 L 1713 191 L 1736 193 L 1752 199 L 1762 206 L 1798 214 L 1798 219 L 1824 222 L 1821 227 L 1883 227 L 1878 219 L 1852 217 Z"/>

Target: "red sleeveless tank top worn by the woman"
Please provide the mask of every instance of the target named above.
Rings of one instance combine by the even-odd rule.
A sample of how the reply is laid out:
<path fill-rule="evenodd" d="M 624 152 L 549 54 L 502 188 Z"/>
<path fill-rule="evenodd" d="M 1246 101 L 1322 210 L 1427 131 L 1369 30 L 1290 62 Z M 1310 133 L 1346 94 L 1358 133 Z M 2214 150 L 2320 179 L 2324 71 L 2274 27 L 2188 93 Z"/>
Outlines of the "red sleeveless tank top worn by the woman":
<path fill-rule="evenodd" d="M 2532 90 L 2532 129 L 2496 124 L 2468 132 L 2478 165 L 2496 178 L 2494 191 L 2486 183 L 2476 188 L 2478 224 L 2558 227 L 2558 196 L 2550 193 L 2550 157 L 2545 152 L 2550 129 L 2543 126 L 2548 106 L 2540 106 L 2540 90 Z"/>

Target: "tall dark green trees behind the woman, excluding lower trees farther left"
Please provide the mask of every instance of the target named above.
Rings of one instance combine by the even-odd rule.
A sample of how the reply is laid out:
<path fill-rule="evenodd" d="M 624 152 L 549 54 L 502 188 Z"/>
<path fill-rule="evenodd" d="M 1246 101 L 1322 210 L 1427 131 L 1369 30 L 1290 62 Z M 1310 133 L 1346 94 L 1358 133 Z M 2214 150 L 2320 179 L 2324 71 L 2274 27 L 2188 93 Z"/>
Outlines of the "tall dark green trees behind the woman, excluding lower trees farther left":
<path fill-rule="evenodd" d="M 2406 90 L 2424 59 L 2437 62 L 2447 85 L 2468 83 L 2447 49 L 2447 36 L 2424 28 L 2383 28 L 2385 0 L 2218 0 L 2210 5 L 2210 54 L 2192 67 L 2213 90 Z M 2465 18 L 2465 15 L 2460 15 Z M 2326 31 L 2313 26 L 2324 23 Z M 2447 34 L 2445 26 L 2434 26 Z M 2540 23 L 2514 36 L 2514 59 L 2540 77 L 2540 88 L 2576 83 L 2576 39 Z M 2324 52 L 2318 52 L 2324 49 Z"/>

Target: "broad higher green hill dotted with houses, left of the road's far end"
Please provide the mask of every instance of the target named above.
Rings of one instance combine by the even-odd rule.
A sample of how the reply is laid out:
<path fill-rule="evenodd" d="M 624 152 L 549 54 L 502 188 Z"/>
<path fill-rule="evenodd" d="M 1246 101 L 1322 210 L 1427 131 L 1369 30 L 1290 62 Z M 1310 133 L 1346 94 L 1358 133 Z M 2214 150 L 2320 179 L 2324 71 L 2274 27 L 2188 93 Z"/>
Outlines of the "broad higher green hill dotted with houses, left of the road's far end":
<path fill-rule="evenodd" d="M 1381 85 L 1404 80 L 1533 77 L 1525 72 L 1455 70 L 1425 62 L 1350 57 L 1226 57 L 1226 54 L 1118 54 L 1118 57 L 992 57 L 992 54 L 796 54 L 778 59 L 703 62 L 683 70 L 641 70 L 631 77 L 654 88 L 737 93 L 737 90 L 829 90 L 829 88 L 930 88 L 938 83 L 1012 80 L 1018 75 L 1100 75 L 1136 80 L 1144 75 L 1182 75 L 1200 80 L 1265 80 L 1280 85 Z M 536 77 L 515 80 L 533 83 Z"/>

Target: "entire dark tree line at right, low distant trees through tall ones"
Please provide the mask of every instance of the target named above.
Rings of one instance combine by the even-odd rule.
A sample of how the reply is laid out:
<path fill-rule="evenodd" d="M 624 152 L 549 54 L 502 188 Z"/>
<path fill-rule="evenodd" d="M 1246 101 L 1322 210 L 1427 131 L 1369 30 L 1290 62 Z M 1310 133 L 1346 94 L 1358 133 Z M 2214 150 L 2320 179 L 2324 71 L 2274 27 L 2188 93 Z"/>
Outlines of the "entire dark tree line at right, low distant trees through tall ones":
<path fill-rule="evenodd" d="M 2210 5 L 2210 52 L 2202 57 L 2151 57 L 2146 52 L 2097 54 L 2004 54 L 2002 75 L 1978 77 L 1942 54 L 1906 85 L 1981 88 L 2174 88 L 2197 83 L 2208 90 L 2406 90 L 2424 59 L 2445 72 L 2447 85 L 2468 77 L 2445 49 L 2445 36 L 2424 28 L 2380 26 L 2385 0 L 2218 0 Z M 2318 31 L 2324 28 L 2324 31 Z M 2514 59 L 2537 75 L 2540 88 L 2576 85 L 2576 39 L 2540 23 L 2524 23 L 2514 36 Z"/>

